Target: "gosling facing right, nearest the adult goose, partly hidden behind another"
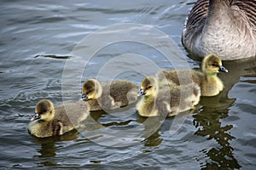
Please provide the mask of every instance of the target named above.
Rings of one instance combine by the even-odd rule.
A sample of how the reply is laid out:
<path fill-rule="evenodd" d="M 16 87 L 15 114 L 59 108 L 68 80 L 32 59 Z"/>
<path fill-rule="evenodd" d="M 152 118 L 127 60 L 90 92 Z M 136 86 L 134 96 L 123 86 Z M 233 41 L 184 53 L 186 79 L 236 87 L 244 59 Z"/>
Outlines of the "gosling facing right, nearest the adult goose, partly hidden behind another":
<path fill-rule="evenodd" d="M 162 70 L 160 72 L 172 84 L 179 86 L 195 82 L 201 88 L 201 96 L 215 96 L 224 88 L 223 82 L 217 76 L 219 71 L 228 72 L 218 55 L 209 54 L 202 60 L 201 71 Z"/>

